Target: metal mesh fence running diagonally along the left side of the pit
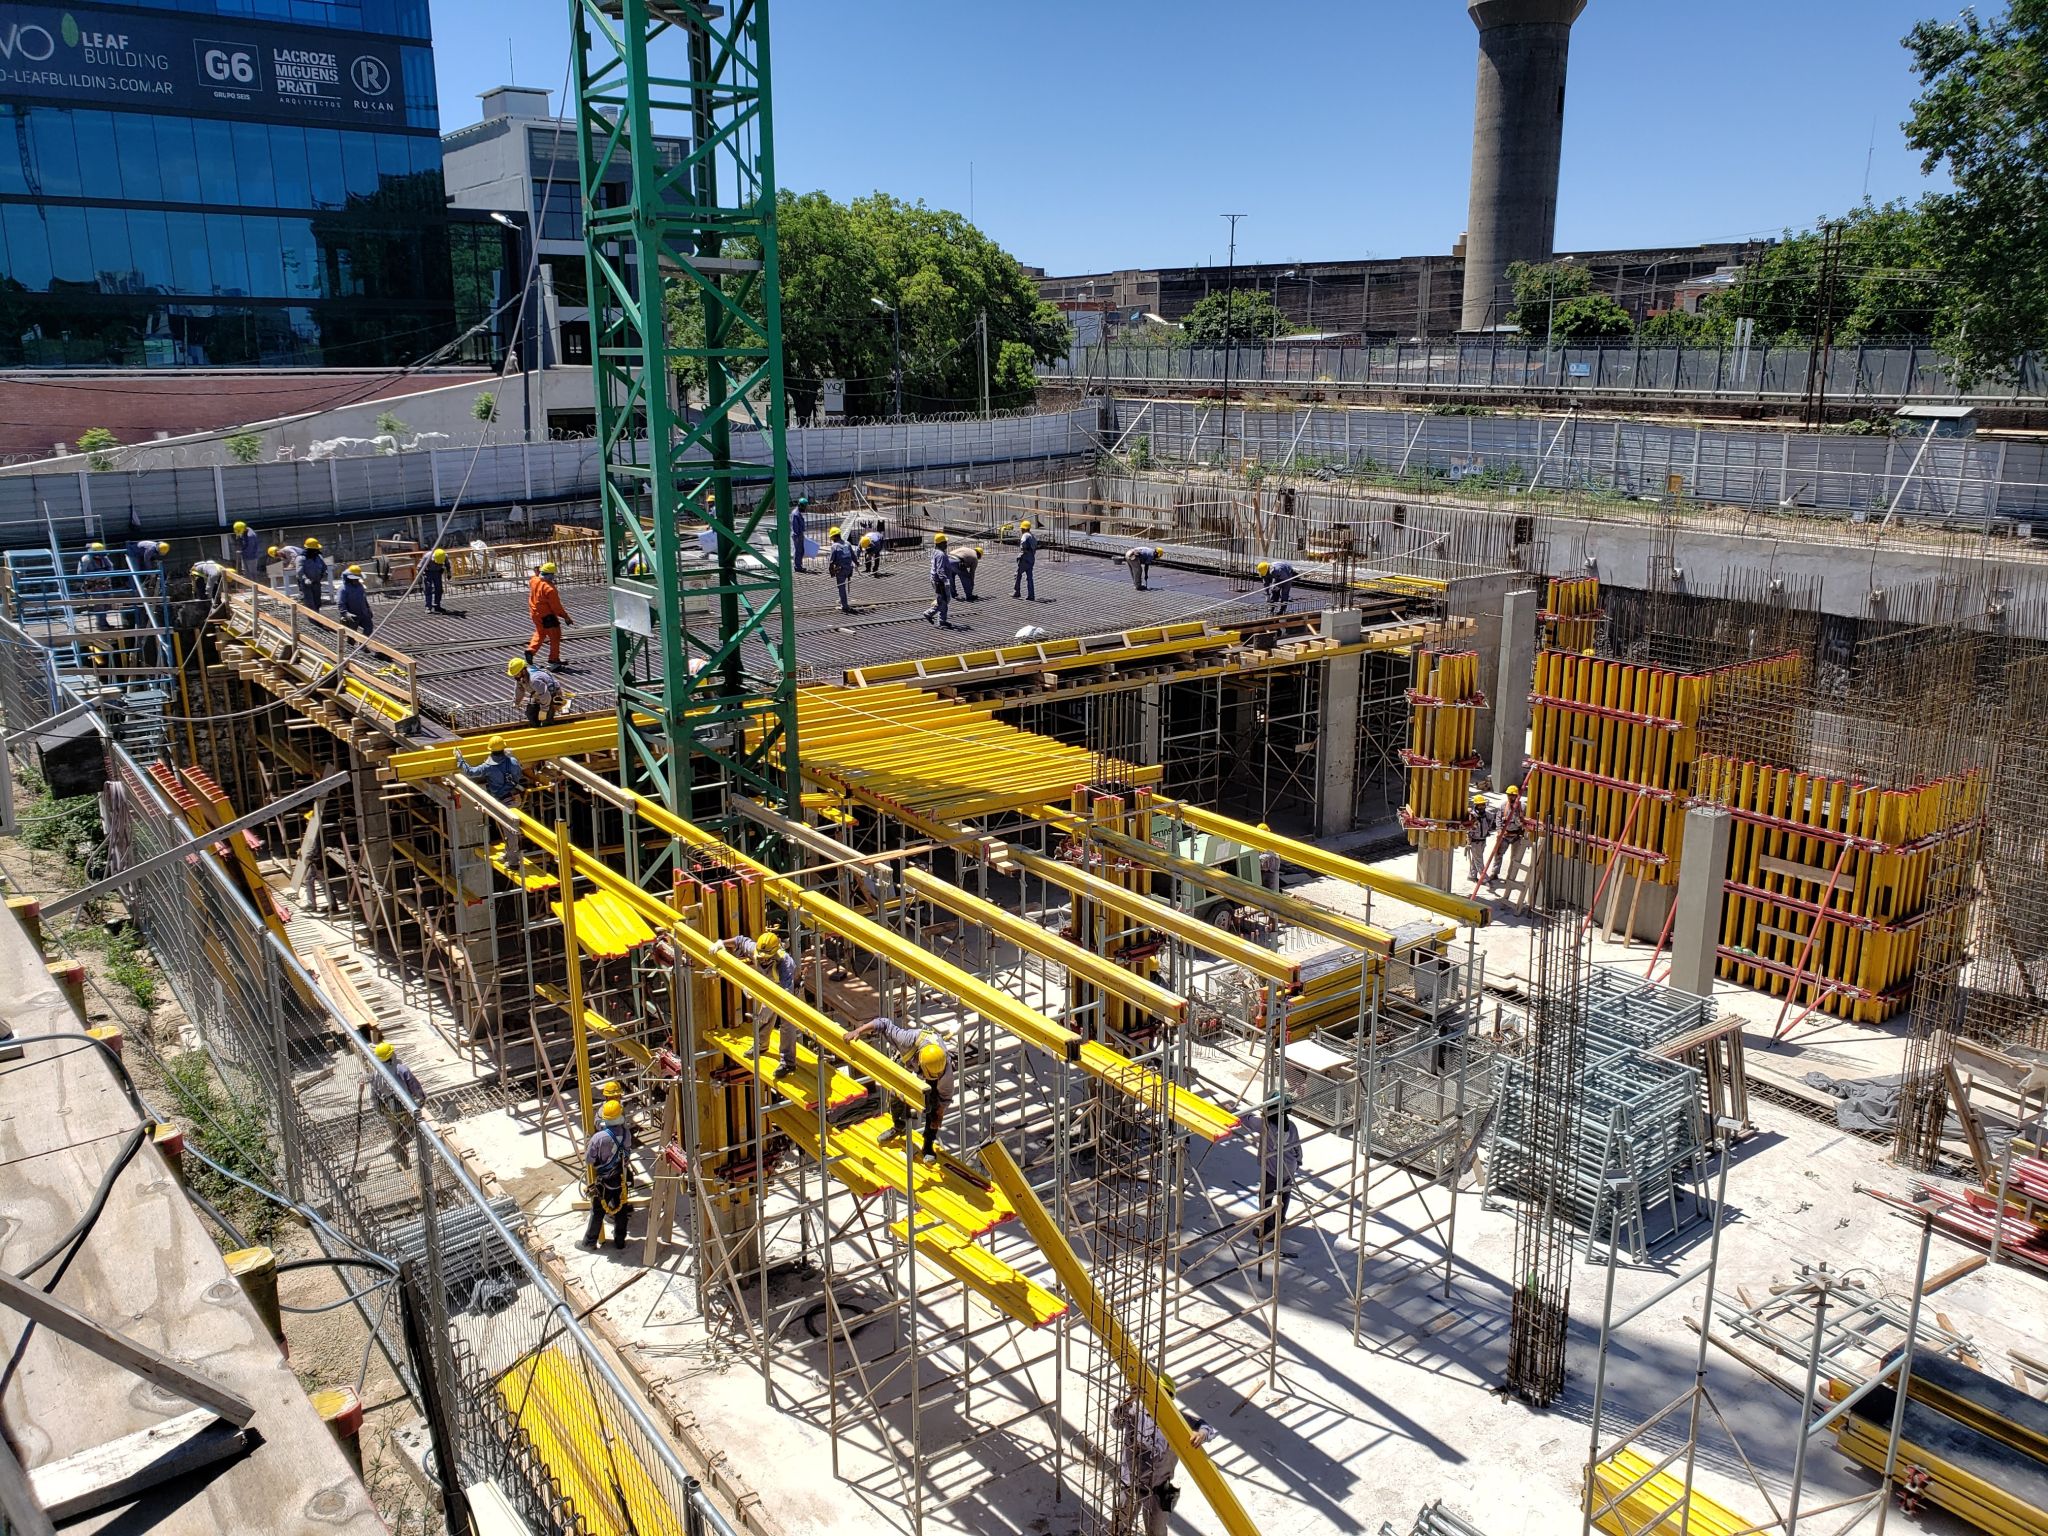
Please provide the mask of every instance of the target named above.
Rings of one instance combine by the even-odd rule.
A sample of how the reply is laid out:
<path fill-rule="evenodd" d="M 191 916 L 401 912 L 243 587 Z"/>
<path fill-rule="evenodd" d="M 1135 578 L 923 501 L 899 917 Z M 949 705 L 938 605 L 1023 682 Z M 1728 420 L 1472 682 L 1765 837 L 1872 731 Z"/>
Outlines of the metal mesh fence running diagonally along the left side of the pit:
<path fill-rule="evenodd" d="M 0 633 L 6 727 L 70 702 L 41 647 Z M 117 743 L 106 754 L 109 858 L 135 870 L 129 913 L 225 1090 L 264 1108 L 285 1192 L 401 1264 L 403 1307 L 375 1288 L 356 1305 L 436 1427 L 436 1456 L 453 1456 L 457 1487 L 496 1481 L 535 1530 L 729 1534 L 522 1245 L 512 1202 L 492 1202 L 440 1141 L 432 1102 L 414 1112 L 225 858 L 193 848 L 168 770 Z M 467 1530 L 459 1509 L 449 1516 Z"/>

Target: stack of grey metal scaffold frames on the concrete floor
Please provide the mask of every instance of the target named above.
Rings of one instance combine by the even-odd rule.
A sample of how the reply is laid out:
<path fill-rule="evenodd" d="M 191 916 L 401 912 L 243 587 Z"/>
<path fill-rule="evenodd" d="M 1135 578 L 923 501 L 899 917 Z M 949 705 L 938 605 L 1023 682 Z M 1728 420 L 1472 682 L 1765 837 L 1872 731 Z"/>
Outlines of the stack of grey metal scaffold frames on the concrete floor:
<path fill-rule="evenodd" d="M 1614 1231 L 1636 1262 L 1649 1257 L 1651 1217 L 1677 1233 L 1700 1210 L 1679 1196 L 1698 1178 L 1708 1147 L 1700 1071 L 1661 1055 L 1714 1020 L 1706 997 L 1651 985 L 1612 967 L 1585 979 L 1577 1065 L 1579 1104 L 1567 1143 L 1559 1202 L 1587 1233 L 1587 1251 Z M 1493 1128 L 1491 1192 L 1534 1194 L 1550 1178 L 1538 1139 L 1542 1096 L 1534 1063 L 1509 1061 Z"/>

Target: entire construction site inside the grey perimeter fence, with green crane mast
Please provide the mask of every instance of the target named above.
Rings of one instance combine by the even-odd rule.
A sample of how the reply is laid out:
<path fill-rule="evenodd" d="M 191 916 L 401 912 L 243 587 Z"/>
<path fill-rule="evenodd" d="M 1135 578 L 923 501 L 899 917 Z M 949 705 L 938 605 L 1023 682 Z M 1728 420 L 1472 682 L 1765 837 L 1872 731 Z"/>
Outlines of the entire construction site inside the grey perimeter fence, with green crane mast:
<path fill-rule="evenodd" d="M 805 432 L 766 27 L 592 442 L 0 479 L 6 1524 L 2048 1530 L 2040 444 Z"/>

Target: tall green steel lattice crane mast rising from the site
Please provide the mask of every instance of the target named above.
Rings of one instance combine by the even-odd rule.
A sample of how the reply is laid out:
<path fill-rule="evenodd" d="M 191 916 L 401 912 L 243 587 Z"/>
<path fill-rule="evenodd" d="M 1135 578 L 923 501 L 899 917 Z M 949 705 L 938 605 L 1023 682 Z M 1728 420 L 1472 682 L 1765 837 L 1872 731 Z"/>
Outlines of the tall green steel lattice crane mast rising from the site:
<path fill-rule="evenodd" d="M 717 819 L 698 793 L 721 786 L 791 805 L 768 4 L 573 0 L 571 31 L 621 778 L 678 815 Z M 748 461 L 735 426 L 758 434 Z M 666 885 L 672 862 L 637 874 Z"/>

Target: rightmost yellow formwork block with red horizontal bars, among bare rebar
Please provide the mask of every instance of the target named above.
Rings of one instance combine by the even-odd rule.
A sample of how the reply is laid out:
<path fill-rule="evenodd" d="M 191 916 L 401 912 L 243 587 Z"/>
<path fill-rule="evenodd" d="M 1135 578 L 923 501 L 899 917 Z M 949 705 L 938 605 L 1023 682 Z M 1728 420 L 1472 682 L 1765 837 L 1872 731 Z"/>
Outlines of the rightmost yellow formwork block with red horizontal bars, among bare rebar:
<path fill-rule="evenodd" d="M 1970 899 L 1956 854 L 1982 825 L 1982 778 L 1880 788 L 1731 756 L 1698 776 L 1735 819 L 1720 975 L 1860 1024 L 1901 1012 L 1923 932 Z"/>

